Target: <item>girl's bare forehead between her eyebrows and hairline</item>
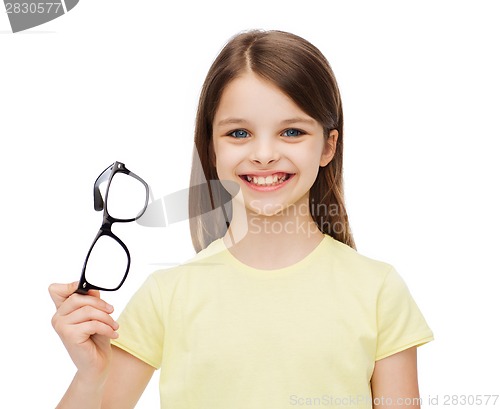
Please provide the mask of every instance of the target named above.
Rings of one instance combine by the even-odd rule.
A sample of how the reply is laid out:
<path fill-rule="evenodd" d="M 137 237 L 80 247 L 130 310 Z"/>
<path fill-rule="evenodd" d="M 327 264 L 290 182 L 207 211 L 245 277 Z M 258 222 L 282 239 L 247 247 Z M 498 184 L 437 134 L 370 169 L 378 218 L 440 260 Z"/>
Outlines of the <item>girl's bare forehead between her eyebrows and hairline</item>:
<path fill-rule="evenodd" d="M 247 72 L 224 89 L 214 125 L 231 118 L 271 123 L 297 117 L 316 122 L 275 84 Z"/>

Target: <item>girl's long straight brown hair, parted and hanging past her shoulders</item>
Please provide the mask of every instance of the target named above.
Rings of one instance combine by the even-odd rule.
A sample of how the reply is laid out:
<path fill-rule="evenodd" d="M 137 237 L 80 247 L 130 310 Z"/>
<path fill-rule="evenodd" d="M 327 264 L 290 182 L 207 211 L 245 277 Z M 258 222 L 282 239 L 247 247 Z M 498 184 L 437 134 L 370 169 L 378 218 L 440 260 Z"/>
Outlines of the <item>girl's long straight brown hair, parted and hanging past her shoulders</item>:
<path fill-rule="evenodd" d="M 315 46 L 297 35 L 253 30 L 236 35 L 225 45 L 201 90 L 189 195 L 196 251 L 224 236 L 231 220 L 231 195 L 218 182 L 214 165 L 212 123 L 224 88 L 245 71 L 280 88 L 322 125 L 325 138 L 331 130 L 338 131 L 335 156 L 320 167 L 310 189 L 309 210 L 323 233 L 355 248 L 344 204 L 342 101 L 330 64 Z"/>

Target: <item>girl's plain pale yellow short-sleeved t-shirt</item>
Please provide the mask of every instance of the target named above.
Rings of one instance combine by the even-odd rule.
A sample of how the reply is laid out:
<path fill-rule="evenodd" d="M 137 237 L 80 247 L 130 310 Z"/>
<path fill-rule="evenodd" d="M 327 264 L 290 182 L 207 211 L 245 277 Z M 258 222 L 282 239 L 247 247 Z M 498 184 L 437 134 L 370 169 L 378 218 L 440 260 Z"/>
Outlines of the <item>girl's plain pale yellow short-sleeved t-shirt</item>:
<path fill-rule="evenodd" d="M 325 235 L 259 270 L 221 239 L 153 273 L 113 343 L 161 367 L 164 409 L 370 408 L 374 363 L 433 334 L 394 268 Z"/>

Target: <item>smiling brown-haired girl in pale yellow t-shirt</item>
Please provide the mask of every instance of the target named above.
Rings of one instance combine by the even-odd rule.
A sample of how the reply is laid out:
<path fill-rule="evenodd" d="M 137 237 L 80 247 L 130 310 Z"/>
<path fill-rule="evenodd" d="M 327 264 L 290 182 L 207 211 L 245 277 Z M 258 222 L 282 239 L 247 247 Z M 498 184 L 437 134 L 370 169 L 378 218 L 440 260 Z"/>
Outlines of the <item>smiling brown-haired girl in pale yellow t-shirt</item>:
<path fill-rule="evenodd" d="M 50 287 L 77 366 L 59 407 L 132 408 L 160 367 L 163 408 L 419 407 L 432 332 L 395 270 L 354 249 L 342 130 L 318 49 L 279 31 L 231 39 L 197 114 L 198 254 L 146 280 L 119 337 L 99 294 Z"/>

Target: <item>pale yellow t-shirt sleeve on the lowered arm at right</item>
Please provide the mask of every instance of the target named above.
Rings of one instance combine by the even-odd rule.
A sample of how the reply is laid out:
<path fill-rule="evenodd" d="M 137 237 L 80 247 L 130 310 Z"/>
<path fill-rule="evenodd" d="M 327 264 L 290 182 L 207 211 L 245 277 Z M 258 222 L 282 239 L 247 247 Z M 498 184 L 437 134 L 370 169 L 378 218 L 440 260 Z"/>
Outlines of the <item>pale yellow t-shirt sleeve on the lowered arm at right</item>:
<path fill-rule="evenodd" d="M 377 329 L 375 360 L 434 339 L 408 287 L 394 269 L 387 273 L 378 296 Z"/>

